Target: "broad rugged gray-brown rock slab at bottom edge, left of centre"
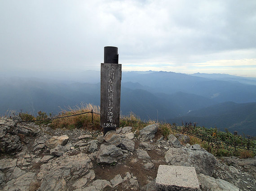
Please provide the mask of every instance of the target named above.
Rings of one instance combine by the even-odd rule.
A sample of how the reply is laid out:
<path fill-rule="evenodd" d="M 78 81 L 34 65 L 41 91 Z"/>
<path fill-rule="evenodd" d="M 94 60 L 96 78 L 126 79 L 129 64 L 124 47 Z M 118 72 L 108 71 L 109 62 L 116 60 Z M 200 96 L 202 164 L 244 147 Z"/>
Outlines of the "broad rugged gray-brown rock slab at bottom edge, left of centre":
<path fill-rule="evenodd" d="M 40 190 L 68 190 L 68 183 L 89 173 L 93 168 L 87 154 L 61 156 L 41 165 L 37 179 L 41 180 Z"/>

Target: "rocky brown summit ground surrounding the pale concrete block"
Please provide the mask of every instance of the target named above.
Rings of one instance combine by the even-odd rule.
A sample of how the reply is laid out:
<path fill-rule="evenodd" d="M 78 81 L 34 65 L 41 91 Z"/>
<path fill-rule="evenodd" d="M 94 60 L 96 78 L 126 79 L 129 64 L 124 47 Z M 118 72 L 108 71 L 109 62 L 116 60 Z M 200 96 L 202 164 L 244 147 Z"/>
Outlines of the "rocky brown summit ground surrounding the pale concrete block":
<path fill-rule="evenodd" d="M 164 140 L 157 124 L 103 137 L 17 120 L 0 118 L 0 190 L 154 191 L 159 165 L 194 166 L 203 191 L 256 190 L 256 157 L 217 159 L 188 136 Z"/>

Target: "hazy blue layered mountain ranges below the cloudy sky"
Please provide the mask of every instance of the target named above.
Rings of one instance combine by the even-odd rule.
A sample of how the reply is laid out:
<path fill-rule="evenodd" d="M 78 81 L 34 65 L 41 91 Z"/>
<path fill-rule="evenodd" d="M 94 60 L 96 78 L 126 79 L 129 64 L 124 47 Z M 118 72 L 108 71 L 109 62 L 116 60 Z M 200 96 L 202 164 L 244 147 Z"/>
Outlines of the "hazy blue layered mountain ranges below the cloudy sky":
<path fill-rule="evenodd" d="M 39 77 L 41 77 L 39 75 Z M 100 72 L 52 79 L 0 77 L 0 115 L 7 110 L 57 114 L 81 102 L 100 104 Z M 121 112 L 168 123 L 197 122 L 256 136 L 256 78 L 226 74 L 123 72 Z"/>

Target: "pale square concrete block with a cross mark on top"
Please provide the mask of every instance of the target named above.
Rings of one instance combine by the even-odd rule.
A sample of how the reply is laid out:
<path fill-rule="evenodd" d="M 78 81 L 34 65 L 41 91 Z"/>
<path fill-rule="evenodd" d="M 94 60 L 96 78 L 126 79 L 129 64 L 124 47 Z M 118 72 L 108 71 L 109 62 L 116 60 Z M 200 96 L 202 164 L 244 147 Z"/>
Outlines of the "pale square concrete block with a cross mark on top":
<path fill-rule="evenodd" d="M 159 165 L 157 191 L 200 191 L 197 174 L 191 166 Z"/>

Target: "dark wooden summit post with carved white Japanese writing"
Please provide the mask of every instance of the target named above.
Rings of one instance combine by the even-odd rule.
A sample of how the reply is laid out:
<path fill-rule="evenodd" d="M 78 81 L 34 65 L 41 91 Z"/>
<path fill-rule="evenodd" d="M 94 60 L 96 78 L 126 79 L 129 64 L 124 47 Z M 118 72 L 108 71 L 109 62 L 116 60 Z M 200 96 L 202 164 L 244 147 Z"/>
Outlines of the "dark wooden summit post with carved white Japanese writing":
<path fill-rule="evenodd" d="M 121 79 L 118 48 L 104 47 L 104 63 L 101 63 L 101 127 L 104 136 L 119 128 Z"/>

